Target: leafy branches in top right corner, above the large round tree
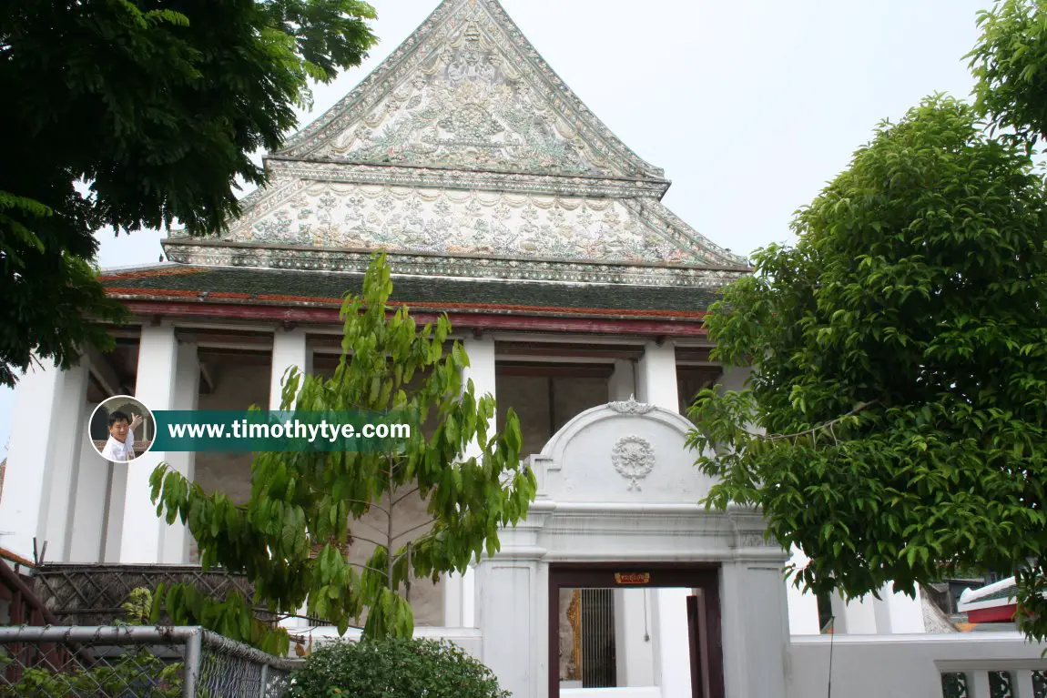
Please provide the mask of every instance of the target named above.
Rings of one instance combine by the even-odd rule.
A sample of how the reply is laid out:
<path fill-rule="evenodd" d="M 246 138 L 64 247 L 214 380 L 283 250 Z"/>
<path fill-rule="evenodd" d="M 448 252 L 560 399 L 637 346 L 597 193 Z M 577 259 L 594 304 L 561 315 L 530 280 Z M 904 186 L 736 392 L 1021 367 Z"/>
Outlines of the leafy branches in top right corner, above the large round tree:
<path fill-rule="evenodd" d="M 1047 134 L 1047 3 L 1005 0 L 978 14 L 981 37 L 966 58 L 978 111 L 1020 141 Z"/>

